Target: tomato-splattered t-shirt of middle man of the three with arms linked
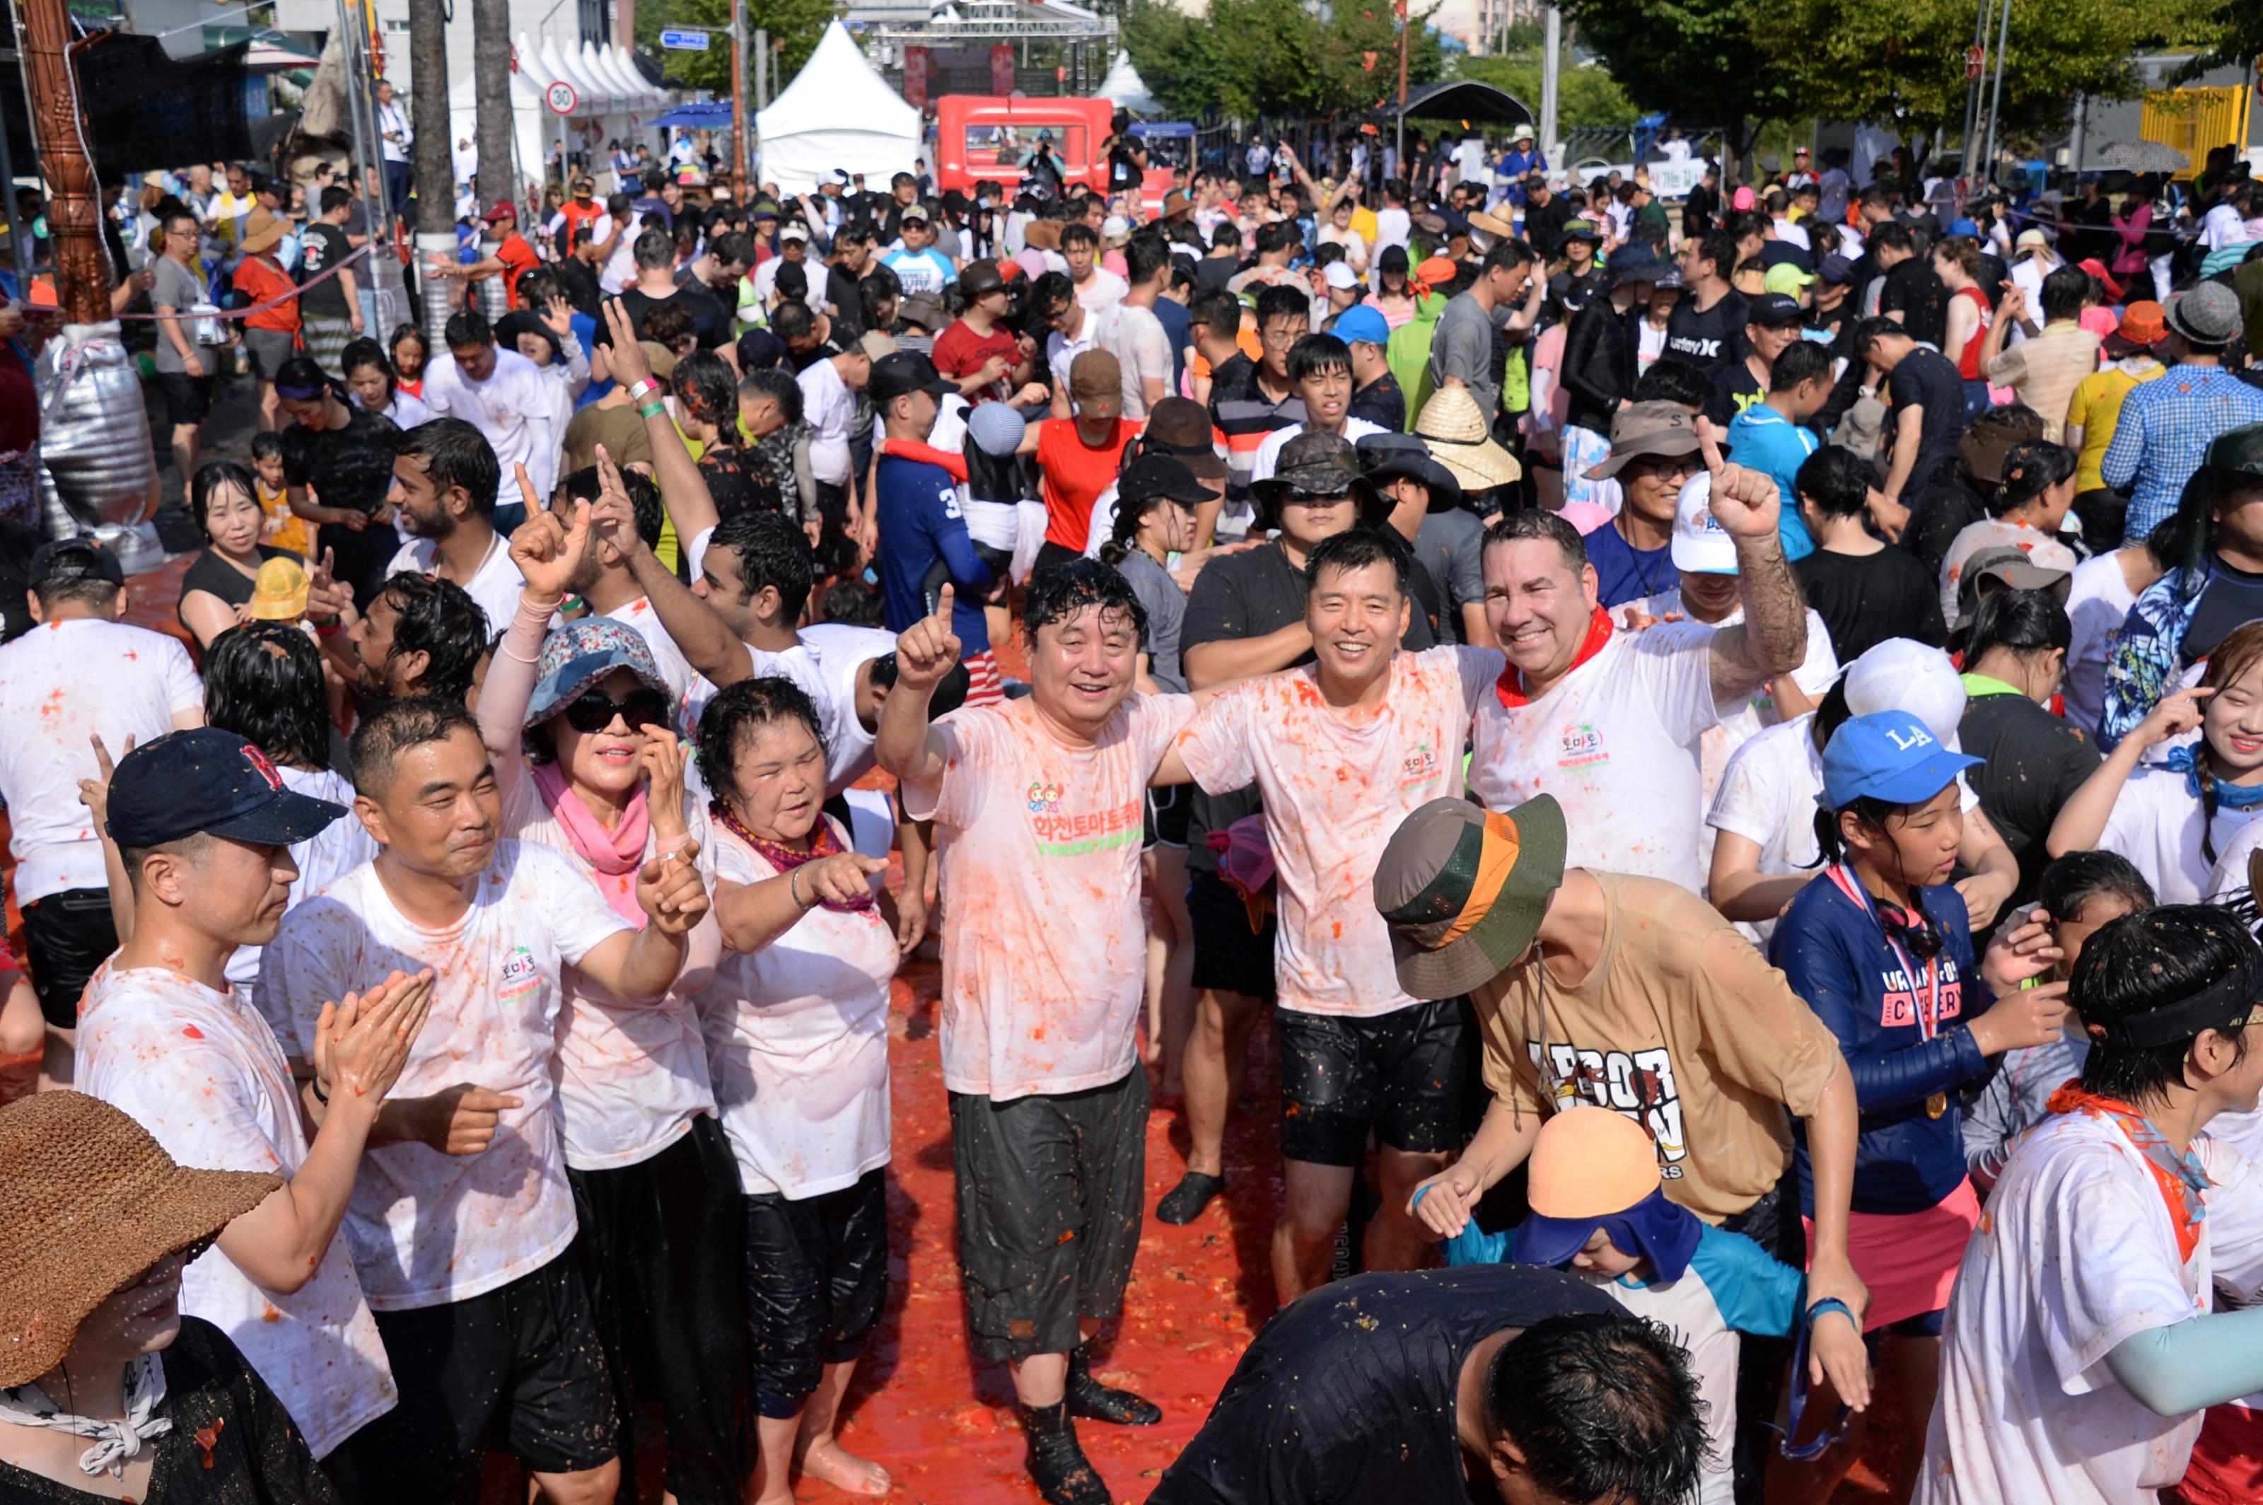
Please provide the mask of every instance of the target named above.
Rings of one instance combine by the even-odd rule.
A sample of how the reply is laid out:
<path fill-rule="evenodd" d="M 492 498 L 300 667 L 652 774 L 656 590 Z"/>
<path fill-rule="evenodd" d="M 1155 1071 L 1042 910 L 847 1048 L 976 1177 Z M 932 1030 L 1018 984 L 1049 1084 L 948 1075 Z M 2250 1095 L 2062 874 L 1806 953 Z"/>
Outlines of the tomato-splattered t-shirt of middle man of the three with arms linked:
<path fill-rule="evenodd" d="M 1417 1003 L 1376 912 L 1376 862 L 1408 810 L 1462 792 L 1469 717 L 1500 665 L 1489 647 L 1394 654 L 1389 693 L 1362 715 L 1331 706 L 1315 668 L 1294 668 L 1220 690 L 1179 736 L 1204 790 L 1265 794 L 1283 1009 L 1371 1018 Z"/>

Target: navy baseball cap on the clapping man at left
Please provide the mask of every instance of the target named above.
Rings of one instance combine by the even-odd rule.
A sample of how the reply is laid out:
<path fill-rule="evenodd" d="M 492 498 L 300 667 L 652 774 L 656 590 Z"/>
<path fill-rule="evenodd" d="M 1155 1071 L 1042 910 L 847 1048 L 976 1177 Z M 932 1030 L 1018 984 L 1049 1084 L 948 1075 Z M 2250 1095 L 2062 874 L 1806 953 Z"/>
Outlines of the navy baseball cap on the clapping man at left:
<path fill-rule="evenodd" d="M 253 846 L 294 846 L 346 812 L 283 785 L 283 774 L 233 731 L 170 731 L 124 756 L 111 774 L 111 840 L 127 849 L 217 835 Z"/>

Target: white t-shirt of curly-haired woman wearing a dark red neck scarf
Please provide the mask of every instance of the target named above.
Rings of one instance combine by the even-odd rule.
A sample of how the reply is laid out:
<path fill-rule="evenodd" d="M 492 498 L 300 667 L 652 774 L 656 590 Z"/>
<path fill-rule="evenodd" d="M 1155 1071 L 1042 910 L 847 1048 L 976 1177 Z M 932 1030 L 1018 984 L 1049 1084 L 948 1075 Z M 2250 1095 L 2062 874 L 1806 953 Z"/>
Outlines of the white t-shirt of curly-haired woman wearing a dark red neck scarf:
<path fill-rule="evenodd" d="M 778 876 L 722 828 L 715 871 L 742 885 Z M 878 908 L 817 905 L 763 951 L 724 953 L 699 1014 L 740 1190 L 817 1197 L 887 1163 L 894 975 L 896 937 Z"/>

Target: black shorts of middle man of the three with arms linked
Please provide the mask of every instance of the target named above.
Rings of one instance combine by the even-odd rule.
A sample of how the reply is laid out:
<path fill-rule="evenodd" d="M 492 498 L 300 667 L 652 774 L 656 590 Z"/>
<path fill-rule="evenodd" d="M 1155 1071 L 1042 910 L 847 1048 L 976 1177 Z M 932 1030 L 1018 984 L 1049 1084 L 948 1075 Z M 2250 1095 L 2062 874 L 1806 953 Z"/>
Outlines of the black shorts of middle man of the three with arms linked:
<path fill-rule="evenodd" d="M 1478 1066 L 1469 998 L 1346 1018 L 1281 1009 L 1281 1156 L 1358 1166 L 1367 1129 L 1392 1150 L 1460 1150 L 1462 1100 Z"/>

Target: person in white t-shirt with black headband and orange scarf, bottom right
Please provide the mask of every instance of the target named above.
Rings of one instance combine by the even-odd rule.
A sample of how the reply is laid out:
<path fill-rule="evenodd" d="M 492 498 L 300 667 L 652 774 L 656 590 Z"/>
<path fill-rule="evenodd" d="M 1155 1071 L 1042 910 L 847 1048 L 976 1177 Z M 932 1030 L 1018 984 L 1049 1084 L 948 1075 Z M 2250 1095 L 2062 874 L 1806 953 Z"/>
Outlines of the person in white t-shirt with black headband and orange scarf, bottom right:
<path fill-rule="evenodd" d="M 2263 1390 L 2263 1181 L 2211 1129 L 2263 1089 L 2258 996 L 2263 953 L 2225 910 L 2089 937 L 2089 1057 L 1964 1249 L 1917 1505 L 2152 1505 L 2179 1480 L 2247 1498 L 2243 1448 L 2195 1437 Z"/>

